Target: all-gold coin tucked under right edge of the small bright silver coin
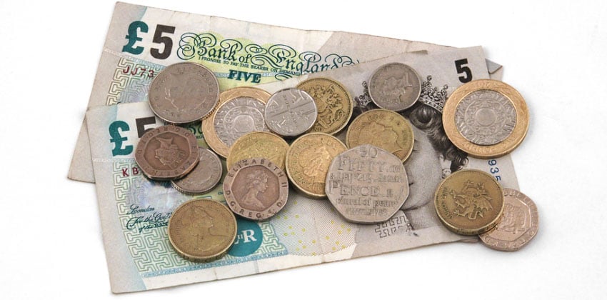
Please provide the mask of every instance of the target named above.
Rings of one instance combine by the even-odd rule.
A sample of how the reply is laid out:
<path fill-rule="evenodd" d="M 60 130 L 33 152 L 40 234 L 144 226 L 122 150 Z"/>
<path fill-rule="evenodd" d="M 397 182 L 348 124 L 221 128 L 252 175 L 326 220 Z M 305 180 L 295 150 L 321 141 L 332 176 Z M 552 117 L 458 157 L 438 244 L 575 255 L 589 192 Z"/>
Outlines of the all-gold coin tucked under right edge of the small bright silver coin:
<path fill-rule="evenodd" d="M 346 127 L 354 106 L 350 93 L 343 85 L 328 78 L 313 78 L 301 81 L 297 89 L 312 96 L 318 109 L 316 122 L 308 132 L 336 134 Z"/>

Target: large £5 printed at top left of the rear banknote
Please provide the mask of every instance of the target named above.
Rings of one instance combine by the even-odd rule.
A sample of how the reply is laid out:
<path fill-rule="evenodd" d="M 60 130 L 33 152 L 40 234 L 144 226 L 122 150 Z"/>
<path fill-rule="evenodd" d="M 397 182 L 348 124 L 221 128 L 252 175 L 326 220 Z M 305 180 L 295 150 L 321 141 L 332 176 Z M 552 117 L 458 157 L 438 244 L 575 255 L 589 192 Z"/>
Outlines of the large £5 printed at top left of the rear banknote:
<path fill-rule="evenodd" d="M 130 54 L 141 54 L 144 51 L 144 47 L 136 46 L 138 41 L 143 41 L 143 38 L 139 37 L 139 32 L 147 33 L 149 31 L 148 24 L 144 21 L 133 21 L 129 25 L 129 29 L 127 30 L 128 34 L 124 36 L 127 39 L 126 45 L 122 47 L 123 52 L 129 52 Z M 160 48 L 151 48 L 150 54 L 155 59 L 167 59 L 171 56 L 171 50 L 173 49 L 173 39 L 170 36 L 166 36 L 165 34 L 174 34 L 175 27 L 174 26 L 166 26 L 158 24 L 156 25 L 156 31 L 154 31 L 154 39 L 152 42 L 154 44 L 162 45 Z"/>

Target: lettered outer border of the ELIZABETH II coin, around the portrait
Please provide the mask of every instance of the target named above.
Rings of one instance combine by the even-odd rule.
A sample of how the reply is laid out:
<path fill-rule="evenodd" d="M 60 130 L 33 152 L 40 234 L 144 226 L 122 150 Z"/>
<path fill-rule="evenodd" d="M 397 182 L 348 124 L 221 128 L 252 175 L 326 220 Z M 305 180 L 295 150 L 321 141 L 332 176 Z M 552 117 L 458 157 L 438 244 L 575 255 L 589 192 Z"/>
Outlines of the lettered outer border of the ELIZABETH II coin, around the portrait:
<path fill-rule="evenodd" d="M 235 184 L 241 182 L 241 180 L 236 181 L 236 177 L 240 175 L 239 173 L 241 173 L 241 171 L 255 166 L 261 166 L 268 170 L 271 174 L 274 174 L 274 176 L 276 176 L 276 187 L 278 188 L 278 196 L 276 197 L 274 202 L 267 205 L 266 207 L 264 207 L 264 209 L 261 210 L 247 209 L 246 207 L 244 207 L 248 204 L 244 204 L 244 201 L 246 201 L 247 199 L 243 198 L 246 198 L 249 193 L 245 193 L 245 195 L 236 194 L 237 186 L 235 186 Z M 253 177 L 252 179 L 259 178 Z M 267 182 L 268 180 L 270 179 L 266 178 L 265 182 Z M 268 187 L 269 186 L 266 186 L 265 189 L 267 189 Z M 241 191 L 243 189 L 246 189 L 246 191 L 251 191 L 257 189 L 257 187 L 254 184 L 251 184 L 251 188 L 247 186 L 239 186 L 239 189 L 241 189 Z M 241 192 L 240 194 L 243 193 Z M 256 196 L 256 194 L 257 192 L 254 192 L 254 196 Z M 228 170 L 226 178 L 224 179 L 224 197 L 226 198 L 228 207 L 231 209 L 231 211 L 234 212 L 234 214 L 242 216 L 245 219 L 263 221 L 265 219 L 271 218 L 275 214 L 278 214 L 278 212 L 286 205 L 286 201 L 289 199 L 289 179 L 287 178 L 284 171 L 279 166 L 276 166 L 276 164 L 271 162 L 269 159 L 266 159 L 264 157 L 243 159 L 234 163 L 234 165 Z"/>

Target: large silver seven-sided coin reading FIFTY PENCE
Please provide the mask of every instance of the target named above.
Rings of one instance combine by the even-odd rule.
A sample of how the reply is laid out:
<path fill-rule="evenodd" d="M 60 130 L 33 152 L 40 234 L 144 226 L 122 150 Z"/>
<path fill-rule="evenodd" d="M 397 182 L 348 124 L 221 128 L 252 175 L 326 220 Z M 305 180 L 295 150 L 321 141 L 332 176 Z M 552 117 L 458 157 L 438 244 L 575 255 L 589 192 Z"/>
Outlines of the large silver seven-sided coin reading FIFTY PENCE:
<path fill-rule="evenodd" d="M 409 194 L 401 159 L 371 145 L 356 146 L 331 161 L 326 195 L 344 219 L 381 223 L 403 206 Z"/>

